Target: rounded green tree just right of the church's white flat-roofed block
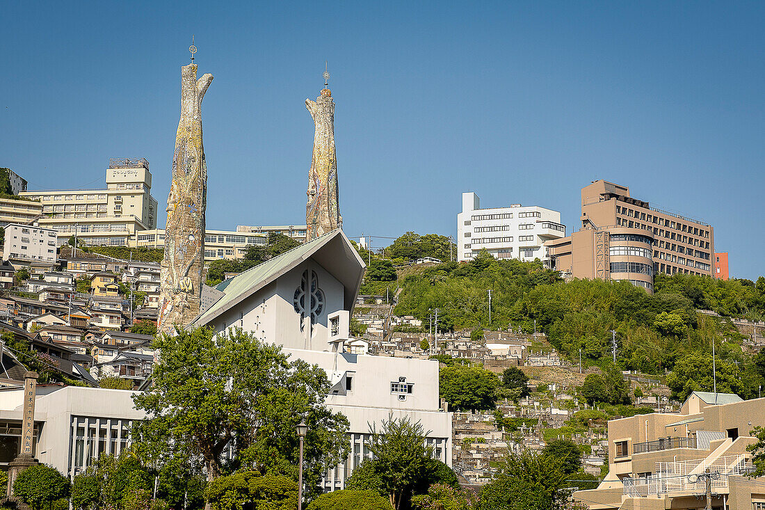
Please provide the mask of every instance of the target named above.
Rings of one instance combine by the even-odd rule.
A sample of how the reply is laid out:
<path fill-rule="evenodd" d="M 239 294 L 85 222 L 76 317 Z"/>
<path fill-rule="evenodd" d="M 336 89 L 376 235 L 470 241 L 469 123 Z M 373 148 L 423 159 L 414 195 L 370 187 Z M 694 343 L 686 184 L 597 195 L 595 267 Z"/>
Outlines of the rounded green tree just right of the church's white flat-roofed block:
<path fill-rule="evenodd" d="M 441 398 L 458 410 L 493 409 L 499 386 L 496 374 L 480 367 L 451 365 L 438 371 Z"/>

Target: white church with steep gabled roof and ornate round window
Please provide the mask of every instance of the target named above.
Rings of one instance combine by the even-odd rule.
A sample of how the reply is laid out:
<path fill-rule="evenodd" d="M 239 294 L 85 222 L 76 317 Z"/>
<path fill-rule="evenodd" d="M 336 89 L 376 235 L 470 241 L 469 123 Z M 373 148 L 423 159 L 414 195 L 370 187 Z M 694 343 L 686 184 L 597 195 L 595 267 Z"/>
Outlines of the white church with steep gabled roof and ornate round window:
<path fill-rule="evenodd" d="M 341 230 L 282 253 L 216 286 L 212 304 L 192 325 L 218 332 L 234 326 L 327 371 L 327 404 L 350 421 L 351 453 L 330 469 L 327 491 L 345 481 L 369 452 L 369 423 L 410 417 L 430 430 L 428 443 L 451 466 L 451 413 L 438 399 L 438 361 L 350 352 L 349 318 L 364 263 Z M 359 350 L 354 346 L 353 351 Z M 363 351 L 363 350 L 362 350 Z"/>

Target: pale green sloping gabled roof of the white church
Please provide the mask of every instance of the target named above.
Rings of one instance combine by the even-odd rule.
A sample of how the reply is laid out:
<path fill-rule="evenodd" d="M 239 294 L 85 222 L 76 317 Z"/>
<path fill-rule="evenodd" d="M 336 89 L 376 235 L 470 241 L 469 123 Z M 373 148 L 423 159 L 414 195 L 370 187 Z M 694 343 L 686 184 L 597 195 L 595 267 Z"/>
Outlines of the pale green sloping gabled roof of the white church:
<path fill-rule="evenodd" d="M 295 266 L 298 266 L 304 260 L 308 260 L 308 257 L 315 257 L 318 251 L 330 244 L 335 248 L 340 248 L 340 253 L 334 253 L 334 257 L 321 257 L 322 260 L 318 261 L 324 266 L 324 269 L 330 270 L 330 273 L 333 272 L 332 269 L 335 269 L 334 276 L 346 287 L 345 304 L 349 309 L 352 308 L 353 302 L 356 299 L 356 293 L 358 293 L 361 284 L 365 266 L 359 254 L 356 253 L 348 238 L 343 234 L 343 231 L 337 229 L 308 243 L 294 247 L 278 257 L 266 260 L 264 263 L 239 273 L 229 280 L 221 282 L 215 288 L 223 291 L 223 296 L 220 296 L 220 299 L 214 302 L 210 308 L 197 315 L 197 318 L 190 325 L 200 326 L 209 324 L 218 315 L 237 303 L 242 302 L 258 289 L 262 289 L 262 287 L 276 280 Z M 343 254 L 346 257 L 342 257 Z M 339 259 L 343 259 L 346 263 L 351 262 L 351 265 L 345 265 L 338 270 L 337 262 Z"/>

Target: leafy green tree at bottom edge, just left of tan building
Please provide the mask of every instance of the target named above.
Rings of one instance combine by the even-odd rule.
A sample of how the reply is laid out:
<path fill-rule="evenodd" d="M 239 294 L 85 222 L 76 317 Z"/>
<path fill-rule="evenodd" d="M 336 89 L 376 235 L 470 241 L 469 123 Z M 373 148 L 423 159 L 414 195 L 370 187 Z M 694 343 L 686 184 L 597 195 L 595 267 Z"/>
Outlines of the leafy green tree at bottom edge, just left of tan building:
<path fill-rule="evenodd" d="M 560 464 L 551 456 L 507 453 L 492 482 L 483 485 L 481 510 L 557 510 L 568 500 Z"/>

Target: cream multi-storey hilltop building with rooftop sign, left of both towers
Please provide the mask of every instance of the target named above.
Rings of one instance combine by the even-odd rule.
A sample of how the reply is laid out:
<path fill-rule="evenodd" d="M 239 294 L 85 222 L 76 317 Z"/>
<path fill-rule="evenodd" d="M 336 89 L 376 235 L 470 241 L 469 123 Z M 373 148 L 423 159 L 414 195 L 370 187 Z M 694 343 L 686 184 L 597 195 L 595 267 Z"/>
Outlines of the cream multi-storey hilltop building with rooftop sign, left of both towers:
<path fill-rule="evenodd" d="M 90 245 L 127 246 L 141 230 L 157 227 L 157 201 L 145 159 L 109 159 L 106 189 L 24 191 L 41 201 L 40 224 L 57 230 L 58 244 L 77 234 Z"/>

